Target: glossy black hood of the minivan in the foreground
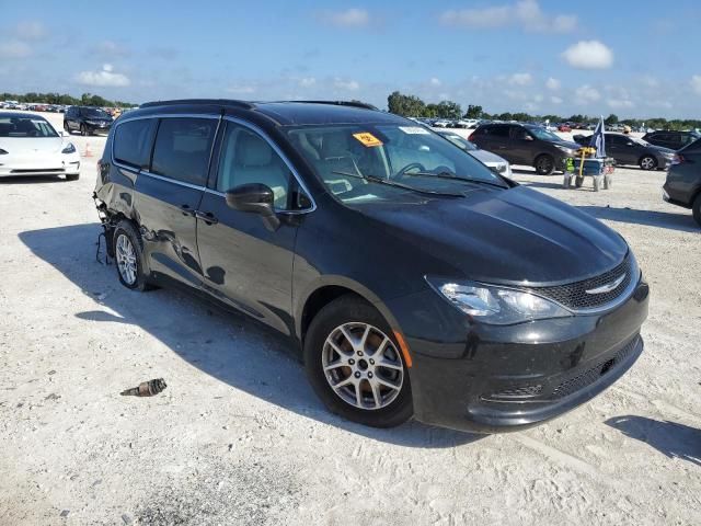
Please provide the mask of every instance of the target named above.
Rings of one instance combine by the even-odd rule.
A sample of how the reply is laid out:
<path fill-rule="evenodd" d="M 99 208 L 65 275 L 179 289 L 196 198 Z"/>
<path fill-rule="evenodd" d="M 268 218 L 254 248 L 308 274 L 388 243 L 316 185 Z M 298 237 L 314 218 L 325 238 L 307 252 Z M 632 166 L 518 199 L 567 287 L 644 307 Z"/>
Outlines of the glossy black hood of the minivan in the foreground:
<path fill-rule="evenodd" d="M 524 186 L 355 208 L 415 254 L 422 273 L 445 277 L 555 285 L 599 275 L 628 253 L 594 217 Z"/>

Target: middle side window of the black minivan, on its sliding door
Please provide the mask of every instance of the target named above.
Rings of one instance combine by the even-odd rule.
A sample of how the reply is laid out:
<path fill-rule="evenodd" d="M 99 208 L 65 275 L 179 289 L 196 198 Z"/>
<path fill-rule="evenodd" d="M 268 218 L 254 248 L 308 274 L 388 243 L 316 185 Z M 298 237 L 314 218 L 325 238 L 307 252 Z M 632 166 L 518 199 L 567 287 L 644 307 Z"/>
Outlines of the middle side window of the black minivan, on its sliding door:
<path fill-rule="evenodd" d="M 204 186 L 216 129 L 214 118 L 162 118 L 156 135 L 151 172 Z"/>

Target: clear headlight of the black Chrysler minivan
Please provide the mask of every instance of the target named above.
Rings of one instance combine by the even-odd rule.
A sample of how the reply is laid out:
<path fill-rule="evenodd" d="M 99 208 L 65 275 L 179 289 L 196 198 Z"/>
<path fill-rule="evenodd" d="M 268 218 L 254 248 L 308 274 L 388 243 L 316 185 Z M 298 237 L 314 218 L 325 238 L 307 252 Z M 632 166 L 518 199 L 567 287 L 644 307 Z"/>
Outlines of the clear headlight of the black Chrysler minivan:
<path fill-rule="evenodd" d="M 572 316 L 564 307 L 524 290 L 429 277 L 426 281 L 456 308 L 484 323 L 508 325 Z"/>

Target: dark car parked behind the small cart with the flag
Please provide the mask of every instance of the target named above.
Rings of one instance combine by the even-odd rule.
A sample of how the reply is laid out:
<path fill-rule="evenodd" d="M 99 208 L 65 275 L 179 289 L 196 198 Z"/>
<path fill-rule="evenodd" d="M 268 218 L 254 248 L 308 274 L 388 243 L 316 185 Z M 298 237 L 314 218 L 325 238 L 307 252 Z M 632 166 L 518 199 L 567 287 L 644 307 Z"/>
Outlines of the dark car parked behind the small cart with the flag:
<path fill-rule="evenodd" d="M 643 139 L 627 134 L 607 132 L 606 155 L 612 157 L 617 164 L 636 164 L 643 170 L 665 170 L 675 157 L 675 150 L 651 145 Z M 575 135 L 574 140 L 582 146 L 589 146 L 590 135 Z"/>

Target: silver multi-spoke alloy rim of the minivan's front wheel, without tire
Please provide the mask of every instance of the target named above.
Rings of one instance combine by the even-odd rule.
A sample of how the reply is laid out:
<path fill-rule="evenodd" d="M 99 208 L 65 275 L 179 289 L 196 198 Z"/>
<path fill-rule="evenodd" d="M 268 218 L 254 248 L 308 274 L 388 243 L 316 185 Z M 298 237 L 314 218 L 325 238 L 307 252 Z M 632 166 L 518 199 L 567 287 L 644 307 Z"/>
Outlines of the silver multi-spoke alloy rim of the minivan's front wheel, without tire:
<path fill-rule="evenodd" d="M 387 408 L 404 382 L 402 356 L 392 340 L 364 322 L 335 328 L 324 342 L 321 365 L 336 396 L 363 410 Z"/>

